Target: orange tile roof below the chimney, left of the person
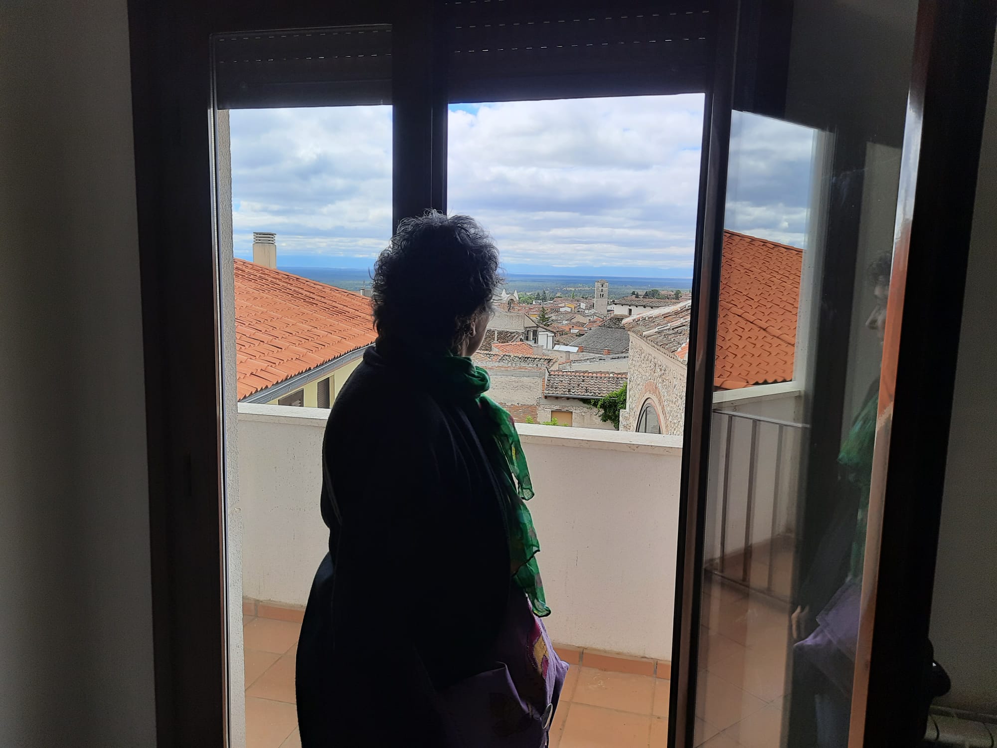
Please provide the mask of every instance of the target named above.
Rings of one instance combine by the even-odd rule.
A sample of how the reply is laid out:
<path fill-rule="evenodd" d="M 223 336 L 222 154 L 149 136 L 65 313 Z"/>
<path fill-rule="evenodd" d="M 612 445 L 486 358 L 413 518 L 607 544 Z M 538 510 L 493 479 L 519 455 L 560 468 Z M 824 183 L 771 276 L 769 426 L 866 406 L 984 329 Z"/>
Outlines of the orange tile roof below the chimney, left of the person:
<path fill-rule="evenodd" d="M 376 337 L 369 298 L 235 258 L 239 400 Z"/>

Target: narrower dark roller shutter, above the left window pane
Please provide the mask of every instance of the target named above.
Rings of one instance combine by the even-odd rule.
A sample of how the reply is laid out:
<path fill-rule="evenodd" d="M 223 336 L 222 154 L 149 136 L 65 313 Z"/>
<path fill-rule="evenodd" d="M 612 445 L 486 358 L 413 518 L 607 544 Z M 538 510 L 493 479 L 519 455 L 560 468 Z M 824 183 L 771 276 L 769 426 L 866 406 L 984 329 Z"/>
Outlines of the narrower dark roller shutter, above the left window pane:
<path fill-rule="evenodd" d="M 218 109 L 391 103 L 391 26 L 219 34 Z"/>

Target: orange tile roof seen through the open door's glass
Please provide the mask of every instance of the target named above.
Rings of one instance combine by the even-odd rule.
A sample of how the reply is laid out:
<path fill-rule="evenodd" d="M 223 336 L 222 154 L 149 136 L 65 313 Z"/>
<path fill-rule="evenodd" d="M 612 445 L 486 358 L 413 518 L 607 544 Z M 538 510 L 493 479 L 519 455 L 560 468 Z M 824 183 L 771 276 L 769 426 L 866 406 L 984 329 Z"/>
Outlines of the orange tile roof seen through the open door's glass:
<path fill-rule="evenodd" d="M 724 231 L 714 386 L 793 379 L 803 249 Z"/>

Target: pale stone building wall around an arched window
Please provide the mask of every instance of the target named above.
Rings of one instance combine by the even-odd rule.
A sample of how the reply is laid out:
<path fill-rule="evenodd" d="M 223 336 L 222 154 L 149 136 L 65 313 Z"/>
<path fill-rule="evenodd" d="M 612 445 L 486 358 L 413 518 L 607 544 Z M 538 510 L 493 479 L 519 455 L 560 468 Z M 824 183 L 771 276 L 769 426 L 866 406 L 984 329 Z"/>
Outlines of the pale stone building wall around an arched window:
<path fill-rule="evenodd" d="M 641 408 L 650 399 L 658 411 L 661 433 L 681 435 L 685 378 L 685 364 L 631 333 L 626 410 L 620 416 L 620 431 L 636 430 Z"/>

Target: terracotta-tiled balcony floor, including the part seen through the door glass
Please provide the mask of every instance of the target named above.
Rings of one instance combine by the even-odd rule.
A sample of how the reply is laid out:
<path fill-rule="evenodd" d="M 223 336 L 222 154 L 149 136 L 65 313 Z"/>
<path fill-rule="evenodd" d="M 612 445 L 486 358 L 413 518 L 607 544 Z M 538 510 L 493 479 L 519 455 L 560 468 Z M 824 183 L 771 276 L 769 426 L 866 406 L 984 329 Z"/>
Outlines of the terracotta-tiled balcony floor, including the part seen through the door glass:
<path fill-rule="evenodd" d="M 710 584 L 704 628 L 703 748 L 779 744 L 786 613 Z M 712 603 L 712 604 L 710 604 Z M 247 748 L 299 748 L 294 656 L 301 624 L 243 616 Z M 665 748 L 670 681 L 572 665 L 551 729 L 551 748 Z M 743 686 L 743 687 L 742 687 Z M 707 721 L 710 720 L 710 721 Z"/>

